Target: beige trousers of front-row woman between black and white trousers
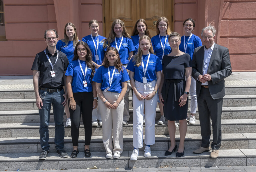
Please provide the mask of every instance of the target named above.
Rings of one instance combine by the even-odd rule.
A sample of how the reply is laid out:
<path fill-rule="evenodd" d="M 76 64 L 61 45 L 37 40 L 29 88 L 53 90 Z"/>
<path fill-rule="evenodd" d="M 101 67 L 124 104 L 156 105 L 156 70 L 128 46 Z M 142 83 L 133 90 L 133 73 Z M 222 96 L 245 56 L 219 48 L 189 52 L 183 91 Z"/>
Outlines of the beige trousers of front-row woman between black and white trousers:
<path fill-rule="evenodd" d="M 103 92 L 105 99 L 114 104 L 120 93 Z M 99 100 L 100 114 L 102 119 L 102 141 L 107 153 L 123 152 L 123 111 L 124 101 L 122 100 L 116 109 L 108 109 L 101 100 Z M 113 143 L 112 145 L 112 132 Z"/>

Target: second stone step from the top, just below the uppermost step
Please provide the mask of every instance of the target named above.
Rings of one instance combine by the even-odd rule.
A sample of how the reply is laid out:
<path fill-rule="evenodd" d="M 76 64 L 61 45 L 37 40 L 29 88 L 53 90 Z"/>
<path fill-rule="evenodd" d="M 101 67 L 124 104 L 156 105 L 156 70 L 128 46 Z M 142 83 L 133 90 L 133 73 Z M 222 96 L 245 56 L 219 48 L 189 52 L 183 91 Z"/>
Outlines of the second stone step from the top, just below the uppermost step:
<path fill-rule="evenodd" d="M 223 106 L 256 106 L 256 95 L 226 95 L 223 98 Z M 190 97 L 188 107 L 190 107 Z M 129 108 L 132 109 L 131 97 L 129 97 Z M 38 108 L 36 106 L 36 99 L 0 99 L 0 110 L 38 110 Z"/>

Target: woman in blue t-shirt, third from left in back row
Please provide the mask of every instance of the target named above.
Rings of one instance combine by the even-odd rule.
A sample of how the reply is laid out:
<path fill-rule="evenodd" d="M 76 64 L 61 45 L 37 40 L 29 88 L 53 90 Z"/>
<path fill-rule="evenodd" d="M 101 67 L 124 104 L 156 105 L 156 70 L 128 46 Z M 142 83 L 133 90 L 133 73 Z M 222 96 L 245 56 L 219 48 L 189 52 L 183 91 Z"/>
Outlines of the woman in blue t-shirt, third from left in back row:
<path fill-rule="evenodd" d="M 127 33 L 122 20 L 116 19 L 113 21 L 109 33 L 109 37 L 105 39 L 103 47 L 115 47 L 120 55 L 121 63 L 123 67 L 126 68 L 129 59 L 133 56 L 133 51 L 135 50 L 132 39 Z M 131 90 L 131 84 L 127 82 L 127 91 L 124 96 L 124 118 L 123 125 L 127 125 L 130 119 L 129 114 L 129 92 Z"/>

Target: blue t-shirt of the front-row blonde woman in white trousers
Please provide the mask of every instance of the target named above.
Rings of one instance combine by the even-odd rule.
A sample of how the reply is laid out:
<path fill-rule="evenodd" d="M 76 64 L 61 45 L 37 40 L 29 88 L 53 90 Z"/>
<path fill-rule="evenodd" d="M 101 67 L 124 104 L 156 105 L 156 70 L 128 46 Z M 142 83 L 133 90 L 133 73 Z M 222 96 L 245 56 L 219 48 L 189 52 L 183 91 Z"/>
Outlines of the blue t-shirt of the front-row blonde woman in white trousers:
<path fill-rule="evenodd" d="M 146 61 L 143 60 L 144 68 L 146 69 L 148 55 L 142 55 L 142 57 L 144 60 L 146 60 Z M 133 59 L 134 58 L 131 58 L 126 69 L 134 72 L 133 78 L 136 81 L 143 83 L 142 77 L 144 77 L 144 72 L 143 72 L 142 65 L 139 67 L 134 66 L 136 64 L 136 61 L 133 62 Z M 156 55 L 151 54 L 149 57 L 149 62 L 148 62 L 147 71 L 146 71 L 147 82 L 151 82 L 155 80 L 156 72 L 161 71 L 162 69 L 163 67 L 160 59 Z"/>

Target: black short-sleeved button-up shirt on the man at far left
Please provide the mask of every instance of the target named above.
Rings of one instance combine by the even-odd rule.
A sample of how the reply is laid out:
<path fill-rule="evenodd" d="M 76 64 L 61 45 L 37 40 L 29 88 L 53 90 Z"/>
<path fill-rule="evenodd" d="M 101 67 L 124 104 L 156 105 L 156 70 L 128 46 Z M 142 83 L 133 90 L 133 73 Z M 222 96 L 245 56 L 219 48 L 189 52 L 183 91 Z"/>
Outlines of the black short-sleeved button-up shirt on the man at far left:
<path fill-rule="evenodd" d="M 59 52 L 59 58 L 54 65 L 56 59 L 57 59 L 57 51 Z M 51 77 L 52 68 L 51 65 L 45 55 L 45 53 L 48 55 L 49 59 L 51 60 L 52 65 L 54 65 L 54 72 L 55 77 Z M 51 53 L 49 53 L 48 48 L 44 51 L 39 52 L 34 60 L 34 63 L 32 65 L 31 70 L 38 70 L 40 71 L 39 76 L 39 89 L 40 88 L 61 88 L 64 86 L 64 80 L 63 80 L 63 74 L 64 71 L 67 70 L 69 61 L 67 56 L 59 51 L 56 50 L 54 55 L 52 56 Z"/>

